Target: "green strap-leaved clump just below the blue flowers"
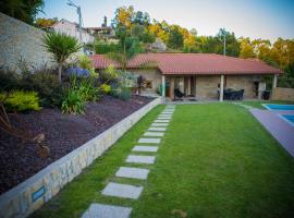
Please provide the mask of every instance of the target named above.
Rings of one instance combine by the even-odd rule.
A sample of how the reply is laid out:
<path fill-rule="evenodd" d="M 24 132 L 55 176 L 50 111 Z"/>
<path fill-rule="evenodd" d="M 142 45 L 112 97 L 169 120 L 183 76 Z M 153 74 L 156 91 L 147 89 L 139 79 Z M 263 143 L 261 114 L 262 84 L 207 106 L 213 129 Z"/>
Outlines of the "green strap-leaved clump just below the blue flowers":
<path fill-rule="evenodd" d="M 85 100 L 78 90 L 69 88 L 63 97 L 61 105 L 61 110 L 63 113 L 84 113 L 85 110 Z"/>

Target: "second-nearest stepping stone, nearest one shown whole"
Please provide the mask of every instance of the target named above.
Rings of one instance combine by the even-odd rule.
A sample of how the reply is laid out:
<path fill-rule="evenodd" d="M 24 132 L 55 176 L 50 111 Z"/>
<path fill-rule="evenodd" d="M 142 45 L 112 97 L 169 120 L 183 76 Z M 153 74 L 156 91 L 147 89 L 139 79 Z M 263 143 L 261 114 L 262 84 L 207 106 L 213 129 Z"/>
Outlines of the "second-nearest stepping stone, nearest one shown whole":
<path fill-rule="evenodd" d="M 109 182 L 107 186 L 103 189 L 102 194 L 114 197 L 137 199 L 142 191 L 143 186 Z"/>

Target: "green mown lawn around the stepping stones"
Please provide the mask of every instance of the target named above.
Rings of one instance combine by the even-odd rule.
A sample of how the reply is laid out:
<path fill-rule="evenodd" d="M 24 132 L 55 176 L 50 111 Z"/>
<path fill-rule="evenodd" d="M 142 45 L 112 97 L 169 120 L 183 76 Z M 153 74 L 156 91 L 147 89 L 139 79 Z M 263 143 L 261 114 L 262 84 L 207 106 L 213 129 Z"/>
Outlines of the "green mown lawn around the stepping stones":
<path fill-rule="evenodd" d="M 114 178 L 157 107 L 33 217 L 79 217 L 93 202 L 133 207 L 132 217 L 293 217 L 294 159 L 248 110 L 176 106 L 147 181 Z M 106 197 L 109 181 L 144 185 L 139 199 Z M 173 213 L 173 211 L 177 213 Z"/>

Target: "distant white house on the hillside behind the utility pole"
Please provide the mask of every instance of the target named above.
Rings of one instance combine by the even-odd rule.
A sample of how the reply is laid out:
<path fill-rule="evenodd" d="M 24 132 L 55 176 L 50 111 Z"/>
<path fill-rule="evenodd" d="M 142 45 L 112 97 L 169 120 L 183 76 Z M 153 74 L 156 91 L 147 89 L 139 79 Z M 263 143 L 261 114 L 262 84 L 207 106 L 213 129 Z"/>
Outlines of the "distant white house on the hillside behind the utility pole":
<path fill-rule="evenodd" d="M 79 40 L 79 29 L 77 23 L 62 19 L 61 21 L 54 23 L 52 26 L 48 28 L 49 31 L 68 34 Z M 79 41 L 84 44 L 89 44 L 93 43 L 95 37 L 93 36 L 93 34 L 87 28 L 82 27 L 82 41 L 81 40 Z"/>

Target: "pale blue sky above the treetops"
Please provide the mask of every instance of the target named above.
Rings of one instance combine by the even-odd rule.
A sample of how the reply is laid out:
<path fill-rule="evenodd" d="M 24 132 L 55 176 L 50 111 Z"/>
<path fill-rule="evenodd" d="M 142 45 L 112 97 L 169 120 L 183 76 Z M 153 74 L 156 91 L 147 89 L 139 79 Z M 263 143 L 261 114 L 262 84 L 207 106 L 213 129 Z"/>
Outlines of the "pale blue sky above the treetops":
<path fill-rule="evenodd" d="M 40 17 L 59 17 L 77 21 L 74 8 L 68 0 L 45 0 L 45 14 Z M 82 8 L 84 26 L 100 26 L 103 16 L 114 16 L 117 8 L 134 5 L 146 11 L 151 19 L 166 20 L 198 35 L 216 35 L 220 27 L 234 32 L 237 37 L 275 40 L 294 38 L 294 0 L 73 0 Z"/>

